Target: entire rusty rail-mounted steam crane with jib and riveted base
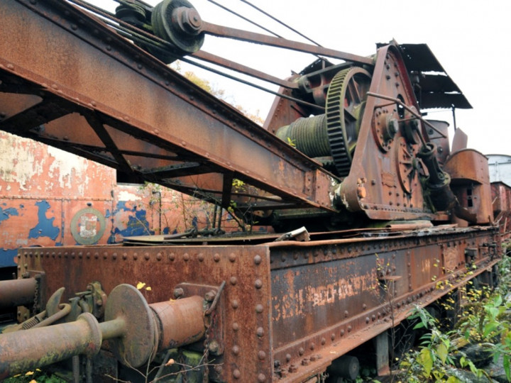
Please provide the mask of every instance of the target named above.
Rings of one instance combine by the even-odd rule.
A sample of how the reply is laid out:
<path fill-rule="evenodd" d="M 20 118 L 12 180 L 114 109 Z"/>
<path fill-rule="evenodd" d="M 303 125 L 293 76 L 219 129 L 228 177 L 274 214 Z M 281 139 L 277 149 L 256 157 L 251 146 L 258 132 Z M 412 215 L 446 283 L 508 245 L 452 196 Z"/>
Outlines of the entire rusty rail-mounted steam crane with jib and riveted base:
<path fill-rule="evenodd" d="M 384 374 L 387 331 L 413 306 L 495 282 L 488 164 L 422 116 L 471 107 L 427 45 L 352 55 L 208 23 L 186 0 L 115 15 L 2 0 L 0 17 L 0 129 L 284 233 L 19 250 L 18 279 L 0 282 L 20 323 L 0 335 L 0 378 L 71 360 L 75 382 L 136 381 L 151 363 L 175 379 L 323 382 L 353 377 L 357 350 Z M 200 50 L 205 35 L 321 58 L 278 79 Z M 187 55 L 278 84 L 265 126 L 165 65 Z"/>

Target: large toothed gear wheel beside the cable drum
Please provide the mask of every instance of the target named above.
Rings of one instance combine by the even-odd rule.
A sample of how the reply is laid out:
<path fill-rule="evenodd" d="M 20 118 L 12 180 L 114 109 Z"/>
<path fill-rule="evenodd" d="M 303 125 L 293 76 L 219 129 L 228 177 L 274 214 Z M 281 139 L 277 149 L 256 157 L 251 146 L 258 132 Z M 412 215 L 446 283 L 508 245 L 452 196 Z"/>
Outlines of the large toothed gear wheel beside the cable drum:
<path fill-rule="evenodd" d="M 326 94 L 326 130 L 340 177 L 350 171 L 370 82 L 368 71 L 351 67 L 334 76 Z"/>

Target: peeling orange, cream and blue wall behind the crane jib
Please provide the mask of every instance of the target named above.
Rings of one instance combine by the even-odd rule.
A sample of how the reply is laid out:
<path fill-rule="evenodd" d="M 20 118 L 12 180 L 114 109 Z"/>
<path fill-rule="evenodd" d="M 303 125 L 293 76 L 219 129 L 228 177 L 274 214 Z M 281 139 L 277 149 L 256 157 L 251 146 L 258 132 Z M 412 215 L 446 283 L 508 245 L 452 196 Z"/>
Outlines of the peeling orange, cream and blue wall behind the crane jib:
<path fill-rule="evenodd" d="M 158 185 L 119 184 L 115 170 L 83 157 L 4 132 L 0 149 L 0 267 L 15 267 L 22 246 L 116 243 L 215 223 L 213 206 Z M 222 228 L 238 225 L 224 212 Z"/>

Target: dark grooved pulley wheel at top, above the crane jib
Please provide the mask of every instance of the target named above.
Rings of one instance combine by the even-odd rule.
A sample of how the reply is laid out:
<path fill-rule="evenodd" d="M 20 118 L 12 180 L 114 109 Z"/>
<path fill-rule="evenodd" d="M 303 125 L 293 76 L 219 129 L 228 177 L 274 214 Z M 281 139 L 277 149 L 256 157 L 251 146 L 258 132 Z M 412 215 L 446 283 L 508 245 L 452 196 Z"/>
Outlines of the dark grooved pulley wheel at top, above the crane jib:
<path fill-rule="evenodd" d="M 202 47 L 201 22 L 199 13 L 187 0 L 163 0 L 153 8 L 151 16 L 154 34 L 185 54 L 197 52 Z"/>

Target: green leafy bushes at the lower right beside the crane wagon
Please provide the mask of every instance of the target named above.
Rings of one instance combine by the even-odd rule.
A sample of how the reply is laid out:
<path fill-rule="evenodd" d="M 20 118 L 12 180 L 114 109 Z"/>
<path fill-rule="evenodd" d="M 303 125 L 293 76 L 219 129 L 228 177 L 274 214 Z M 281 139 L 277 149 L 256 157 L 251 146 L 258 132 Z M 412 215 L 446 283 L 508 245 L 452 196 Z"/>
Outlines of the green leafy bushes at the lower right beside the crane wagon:
<path fill-rule="evenodd" d="M 469 282 L 463 291 L 463 306 L 459 320 L 451 331 L 441 331 L 440 323 L 426 309 L 416 307 L 410 316 L 416 321 L 414 330 L 427 330 L 418 348 L 410 350 L 400 361 L 400 382 L 465 382 L 459 369 L 476 378 L 490 381 L 488 373 L 479 367 L 478 356 L 489 355 L 493 362 L 502 360 L 505 375 L 511 382 L 511 261 L 505 257 L 500 264 L 500 285 L 495 291 L 480 286 L 478 279 Z M 438 289 L 447 286 L 437 284 Z M 449 309 L 449 307 L 445 307 Z M 478 354 L 469 357 L 468 348 Z"/>

